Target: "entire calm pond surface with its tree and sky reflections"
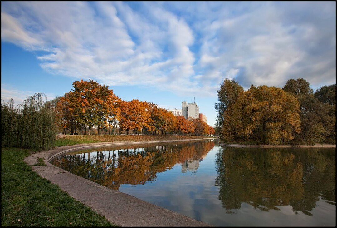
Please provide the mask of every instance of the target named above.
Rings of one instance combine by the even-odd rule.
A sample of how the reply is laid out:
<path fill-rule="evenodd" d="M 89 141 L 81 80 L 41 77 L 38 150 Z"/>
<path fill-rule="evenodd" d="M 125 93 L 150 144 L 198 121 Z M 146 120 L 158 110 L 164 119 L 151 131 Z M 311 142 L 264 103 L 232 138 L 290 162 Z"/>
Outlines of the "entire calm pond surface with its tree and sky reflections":
<path fill-rule="evenodd" d="M 335 159 L 335 148 L 202 141 L 82 150 L 52 163 L 217 226 L 335 226 Z"/>

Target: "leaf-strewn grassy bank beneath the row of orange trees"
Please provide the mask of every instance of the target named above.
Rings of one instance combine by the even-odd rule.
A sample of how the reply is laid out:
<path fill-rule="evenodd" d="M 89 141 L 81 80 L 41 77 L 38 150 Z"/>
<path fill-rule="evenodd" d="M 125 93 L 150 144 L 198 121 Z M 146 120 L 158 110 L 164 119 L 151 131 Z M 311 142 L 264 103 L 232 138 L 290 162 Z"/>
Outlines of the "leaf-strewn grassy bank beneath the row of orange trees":
<path fill-rule="evenodd" d="M 98 142 L 124 142 L 124 141 L 152 141 L 152 140 L 175 140 L 175 139 L 202 139 L 205 136 L 184 136 L 184 135 L 71 135 L 57 139 L 55 146 L 69 146 L 81 143 Z"/>

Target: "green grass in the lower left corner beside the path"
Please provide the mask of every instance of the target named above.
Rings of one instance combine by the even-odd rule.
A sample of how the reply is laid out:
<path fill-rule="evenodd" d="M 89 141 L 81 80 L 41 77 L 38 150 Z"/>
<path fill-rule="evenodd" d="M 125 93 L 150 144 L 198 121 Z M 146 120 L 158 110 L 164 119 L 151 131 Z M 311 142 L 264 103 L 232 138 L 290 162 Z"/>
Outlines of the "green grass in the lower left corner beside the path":
<path fill-rule="evenodd" d="M 1 148 L 2 226 L 115 226 L 32 171 L 33 152 Z"/>

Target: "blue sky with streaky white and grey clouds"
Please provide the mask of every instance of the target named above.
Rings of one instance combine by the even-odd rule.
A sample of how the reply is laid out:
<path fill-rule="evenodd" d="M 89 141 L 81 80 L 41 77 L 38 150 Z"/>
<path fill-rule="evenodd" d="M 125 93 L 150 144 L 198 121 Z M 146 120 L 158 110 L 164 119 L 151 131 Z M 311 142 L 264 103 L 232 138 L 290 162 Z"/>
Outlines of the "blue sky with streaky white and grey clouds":
<path fill-rule="evenodd" d="M 1 2 L 1 76 L 5 102 L 93 79 L 213 126 L 224 78 L 336 83 L 336 2 Z"/>

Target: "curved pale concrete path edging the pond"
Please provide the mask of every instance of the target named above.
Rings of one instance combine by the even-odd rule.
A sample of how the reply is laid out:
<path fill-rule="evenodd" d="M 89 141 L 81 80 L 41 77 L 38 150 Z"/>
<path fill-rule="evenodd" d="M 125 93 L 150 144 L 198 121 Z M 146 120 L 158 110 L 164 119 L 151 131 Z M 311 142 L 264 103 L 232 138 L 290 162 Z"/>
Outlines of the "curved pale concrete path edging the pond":
<path fill-rule="evenodd" d="M 109 189 L 49 163 L 50 160 L 62 153 L 82 148 L 201 140 L 206 139 L 79 144 L 38 152 L 25 158 L 25 162 L 32 166 L 38 163 L 38 158 L 42 158 L 47 166 L 32 166 L 35 172 L 57 184 L 70 196 L 91 207 L 92 210 L 119 226 L 211 226 L 128 194 Z"/>

